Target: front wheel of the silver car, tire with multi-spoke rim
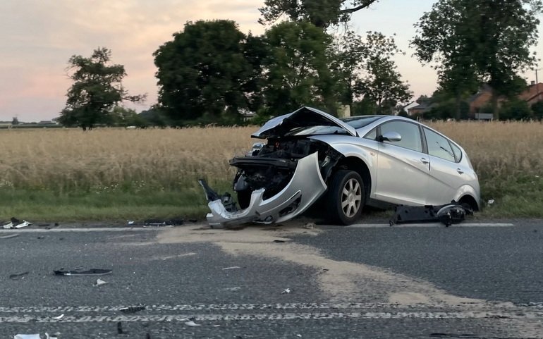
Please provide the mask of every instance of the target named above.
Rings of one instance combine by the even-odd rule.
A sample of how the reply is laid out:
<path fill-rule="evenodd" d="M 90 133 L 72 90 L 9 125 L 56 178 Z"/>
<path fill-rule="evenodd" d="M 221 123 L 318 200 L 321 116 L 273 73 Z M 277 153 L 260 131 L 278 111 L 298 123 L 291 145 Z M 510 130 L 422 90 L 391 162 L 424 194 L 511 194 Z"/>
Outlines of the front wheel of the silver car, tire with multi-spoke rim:
<path fill-rule="evenodd" d="M 365 187 L 355 171 L 337 171 L 330 180 L 324 204 L 327 219 L 337 225 L 350 225 L 360 218 L 365 204 Z"/>

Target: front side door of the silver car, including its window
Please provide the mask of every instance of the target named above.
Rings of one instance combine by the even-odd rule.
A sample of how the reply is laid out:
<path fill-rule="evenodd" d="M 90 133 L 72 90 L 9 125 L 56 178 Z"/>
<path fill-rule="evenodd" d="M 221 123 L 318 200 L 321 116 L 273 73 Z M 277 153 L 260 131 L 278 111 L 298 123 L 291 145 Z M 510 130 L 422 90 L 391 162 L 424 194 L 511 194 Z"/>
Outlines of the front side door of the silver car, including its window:
<path fill-rule="evenodd" d="M 397 142 L 379 141 L 386 132 L 397 132 Z M 419 125 L 389 121 L 377 128 L 377 184 L 375 198 L 393 204 L 425 204 L 429 158 L 423 153 Z"/>

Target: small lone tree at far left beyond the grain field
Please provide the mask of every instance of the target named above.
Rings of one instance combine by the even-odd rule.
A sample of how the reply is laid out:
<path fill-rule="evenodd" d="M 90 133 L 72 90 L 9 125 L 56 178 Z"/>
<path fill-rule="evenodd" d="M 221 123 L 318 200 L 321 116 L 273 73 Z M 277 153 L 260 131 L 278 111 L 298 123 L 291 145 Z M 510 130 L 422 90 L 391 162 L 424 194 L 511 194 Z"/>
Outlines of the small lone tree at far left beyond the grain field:
<path fill-rule="evenodd" d="M 68 71 L 74 81 L 66 96 L 66 108 L 59 122 L 80 126 L 83 130 L 97 124 L 111 123 L 111 109 L 121 101 L 138 102 L 144 95 L 128 95 L 121 81 L 126 76 L 123 65 L 109 65 L 111 50 L 95 49 L 90 58 L 74 55 L 68 61 Z"/>

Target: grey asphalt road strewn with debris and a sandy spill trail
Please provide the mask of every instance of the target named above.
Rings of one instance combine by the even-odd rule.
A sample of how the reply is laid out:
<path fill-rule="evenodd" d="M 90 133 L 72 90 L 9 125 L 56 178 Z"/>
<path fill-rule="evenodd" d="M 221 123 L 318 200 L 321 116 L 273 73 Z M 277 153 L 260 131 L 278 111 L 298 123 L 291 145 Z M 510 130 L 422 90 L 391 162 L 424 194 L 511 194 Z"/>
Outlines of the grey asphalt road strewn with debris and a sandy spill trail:
<path fill-rule="evenodd" d="M 1 230 L 0 338 L 543 338 L 543 223 L 304 226 Z"/>

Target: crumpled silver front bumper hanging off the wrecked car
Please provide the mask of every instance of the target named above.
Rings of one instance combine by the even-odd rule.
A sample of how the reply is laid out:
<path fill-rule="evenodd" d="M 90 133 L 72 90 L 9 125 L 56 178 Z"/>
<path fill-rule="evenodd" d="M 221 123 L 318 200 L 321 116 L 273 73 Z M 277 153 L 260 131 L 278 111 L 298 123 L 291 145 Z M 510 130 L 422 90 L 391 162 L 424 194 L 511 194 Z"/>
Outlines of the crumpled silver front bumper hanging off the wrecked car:
<path fill-rule="evenodd" d="M 253 191 L 246 209 L 227 211 L 221 199 L 210 199 L 207 194 L 207 205 L 211 210 L 211 213 L 207 214 L 207 222 L 218 228 L 249 222 L 279 223 L 301 214 L 325 190 L 327 185 L 322 179 L 315 152 L 298 160 L 293 177 L 281 192 L 264 200 L 264 188 Z"/>

